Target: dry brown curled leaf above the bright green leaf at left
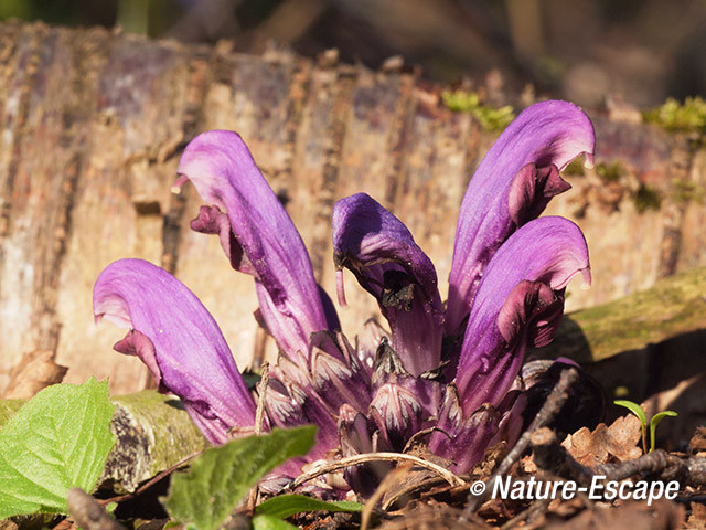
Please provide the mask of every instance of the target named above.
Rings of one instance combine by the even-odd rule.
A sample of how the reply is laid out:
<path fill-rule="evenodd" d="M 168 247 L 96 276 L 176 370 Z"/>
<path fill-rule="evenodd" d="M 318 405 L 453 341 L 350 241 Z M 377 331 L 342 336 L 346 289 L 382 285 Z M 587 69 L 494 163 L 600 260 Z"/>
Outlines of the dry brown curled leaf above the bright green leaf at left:
<path fill-rule="evenodd" d="M 31 351 L 10 370 L 10 383 L 2 393 L 7 400 L 30 399 L 40 390 L 61 383 L 68 368 L 54 362 L 54 353 Z"/>

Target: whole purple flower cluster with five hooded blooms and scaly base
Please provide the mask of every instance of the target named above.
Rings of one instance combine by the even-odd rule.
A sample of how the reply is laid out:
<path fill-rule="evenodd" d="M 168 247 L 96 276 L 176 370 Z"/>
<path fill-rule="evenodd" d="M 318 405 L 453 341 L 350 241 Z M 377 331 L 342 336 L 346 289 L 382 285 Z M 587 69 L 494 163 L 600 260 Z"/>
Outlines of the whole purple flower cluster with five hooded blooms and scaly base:
<path fill-rule="evenodd" d="M 461 206 L 446 310 L 434 265 L 407 227 L 364 193 L 340 200 L 339 300 L 347 268 L 389 326 L 368 363 L 370 352 L 341 332 L 301 237 L 240 137 L 211 131 L 194 139 L 178 186 L 191 180 L 208 205 L 192 229 L 217 234 L 232 266 L 255 278 L 259 321 L 281 350 L 264 427 L 317 424 L 308 459 L 332 449 L 403 451 L 416 433 L 438 427 L 429 448 L 459 473 L 495 441 L 512 444 L 526 403 L 515 381 L 525 350 L 554 338 L 568 282 L 577 274 L 590 282 L 580 230 L 535 218 L 568 189 L 558 171 L 592 150 L 590 121 L 565 102 L 530 107 L 501 135 Z M 140 356 L 213 443 L 253 427 L 254 399 L 217 326 L 178 279 L 146 262 L 116 262 L 96 283 L 94 311 L 131 328 L 116 349 Z M 359 466 L 345 478 L 366 494 L 387 469 Z"/>

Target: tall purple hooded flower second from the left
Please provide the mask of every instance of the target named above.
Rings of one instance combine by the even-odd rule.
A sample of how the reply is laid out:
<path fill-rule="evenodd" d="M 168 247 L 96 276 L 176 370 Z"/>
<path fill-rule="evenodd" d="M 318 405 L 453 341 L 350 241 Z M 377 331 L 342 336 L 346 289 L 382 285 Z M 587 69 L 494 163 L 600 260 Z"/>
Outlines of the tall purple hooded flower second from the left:
<path fill-rule="evenodd" d="M 339 327 L 333 306 L 324 307 L 297 229 L 236 132 L 197 136 L 186 146 L 179 173 L 178 184 L 191 180 L 212 205 L 202 209 L 193 227 L 217 233 L 233 266 L 255 276 L 263 318 L 287 354 L 307 351 L 311 333 Z"/>

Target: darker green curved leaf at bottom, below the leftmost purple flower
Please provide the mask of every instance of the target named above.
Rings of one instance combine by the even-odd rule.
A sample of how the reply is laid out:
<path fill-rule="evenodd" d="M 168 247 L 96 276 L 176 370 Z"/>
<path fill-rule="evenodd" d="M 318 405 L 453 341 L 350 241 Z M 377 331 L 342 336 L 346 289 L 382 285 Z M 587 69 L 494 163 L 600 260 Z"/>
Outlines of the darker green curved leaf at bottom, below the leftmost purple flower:
<path fill-rule="evenodd" d="M 164 506 L 181 522 L 199 530 L 216 530 L 238 502 L 268 471 L 313 446 L 317 427 L 275 428 L 206 449 L 191 469 L 172 477 Z"/>

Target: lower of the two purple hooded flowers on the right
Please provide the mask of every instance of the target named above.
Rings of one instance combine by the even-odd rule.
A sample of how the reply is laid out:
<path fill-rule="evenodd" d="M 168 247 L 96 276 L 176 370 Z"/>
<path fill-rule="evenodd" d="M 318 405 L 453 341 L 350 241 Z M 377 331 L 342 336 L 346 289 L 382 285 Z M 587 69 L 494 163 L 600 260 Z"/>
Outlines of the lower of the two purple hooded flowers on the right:
<path fill-rule="evenodd" d="M 588 248 L 576 224 L 541 218 L 515 232 L 480 283 L 458 363 L 456 384 L 466 415 L 498 405 L 520 371 L 527 343 L 546 344 L 577 274 L 590 282 Z"/>

